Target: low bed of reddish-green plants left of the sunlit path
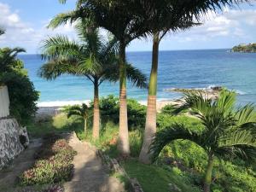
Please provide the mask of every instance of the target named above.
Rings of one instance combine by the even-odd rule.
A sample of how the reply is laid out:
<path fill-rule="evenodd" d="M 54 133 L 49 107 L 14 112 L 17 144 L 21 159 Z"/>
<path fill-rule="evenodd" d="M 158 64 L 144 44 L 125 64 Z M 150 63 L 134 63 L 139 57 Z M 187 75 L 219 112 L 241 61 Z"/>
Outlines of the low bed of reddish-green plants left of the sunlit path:
<path fill-rule="evenodd" d="M 76 152 L 65 139 L 58 137 L 45 138 L 38 153 L 36 162 L 31 169 L 26 170 L 19 177 L 21 186 L 58 183 L 68 181 L 73 175 L 73 157 Z"/>

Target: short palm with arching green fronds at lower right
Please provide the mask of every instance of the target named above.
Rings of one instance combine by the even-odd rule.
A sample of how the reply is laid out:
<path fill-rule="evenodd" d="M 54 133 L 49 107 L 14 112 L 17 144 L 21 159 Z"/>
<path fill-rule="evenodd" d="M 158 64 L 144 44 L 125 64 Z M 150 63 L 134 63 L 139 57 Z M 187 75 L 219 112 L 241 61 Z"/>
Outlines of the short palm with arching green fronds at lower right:
<path fill-rule="evenodd" d="M 256 115 L 253 105 L 235 110 L 236 93 L 223 90 L 216 101 L 201 93 L 188 93 L 181 107 L 190 108 L 205 126 L 201 133 L 189 131 L 186 125 L 174 123 L 159 131 L 150 148 L 153 160 L 161 150 L 177 139 L 189 140 L 204 148 L 208 163 L 204 180 L 204 191 L 210 191 L 215 157 L 256 160 Z"/>

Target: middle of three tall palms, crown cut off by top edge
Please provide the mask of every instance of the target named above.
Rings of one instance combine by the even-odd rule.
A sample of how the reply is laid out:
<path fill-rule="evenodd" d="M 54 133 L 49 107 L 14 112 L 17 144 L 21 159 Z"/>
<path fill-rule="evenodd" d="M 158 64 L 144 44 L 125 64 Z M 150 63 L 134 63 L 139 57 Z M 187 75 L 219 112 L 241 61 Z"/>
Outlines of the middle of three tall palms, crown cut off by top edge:
<path fill-rule="evenodd" d="M 59 0 L 66 3 L 66 0 Z M 111 32 L 119 41 L 119 152 L 130 154 L 127 102 L 126 102 L 126 73 L 127 67 L 125 49 L 135 38 L 145 34 L 143 20 L 137 17 L 137 1 L 134 0 L 78 0 L 77 8 L 66 14 L 57 15 L 49 26 L 60 26 L 67 21 L 74 22 L 80 18 L 94 20 L 100 26 Z"/>

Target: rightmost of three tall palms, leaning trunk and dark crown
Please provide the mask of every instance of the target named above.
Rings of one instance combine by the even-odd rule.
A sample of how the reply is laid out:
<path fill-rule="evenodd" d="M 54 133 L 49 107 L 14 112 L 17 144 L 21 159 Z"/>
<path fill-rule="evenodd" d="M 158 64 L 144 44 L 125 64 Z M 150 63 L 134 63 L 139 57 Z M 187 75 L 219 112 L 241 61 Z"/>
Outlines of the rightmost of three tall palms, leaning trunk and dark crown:
<path fill-rule="evenodd" d="M 157 74 L 159 61 L 160 41 L 168 32 L 189 29 L 191 26 L 199 25 L 201 16 L 207 11 L 221 10 L 224 6 L 243 1 L 236 0 L 145 0 L 142 1 L 143 10 L 141 17 L 145 17 L 144 23 L 148 25 L 148 33 L 153 37 L 152 67 L 148 85 L 148 108 L 143 137 L 143 148 L 139 160 L 150 163 L 148 147 L 152 143 L 152 137 L 156 132 L 156 93 Z M 194 21 L 195 20 L 195 21 Z"/>

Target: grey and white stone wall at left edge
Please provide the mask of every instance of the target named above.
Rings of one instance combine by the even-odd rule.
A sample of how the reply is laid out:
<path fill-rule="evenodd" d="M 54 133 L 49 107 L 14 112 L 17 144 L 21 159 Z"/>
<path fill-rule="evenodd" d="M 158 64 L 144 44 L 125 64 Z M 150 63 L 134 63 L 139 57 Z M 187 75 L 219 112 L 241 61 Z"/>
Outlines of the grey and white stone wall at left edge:
<path fill-rule="evenodd" d="M 26 129 L 21 128 L 16 119 L 0 119 L 0 170 L 24 150 L 20 135 L 27 137 Z"/>

